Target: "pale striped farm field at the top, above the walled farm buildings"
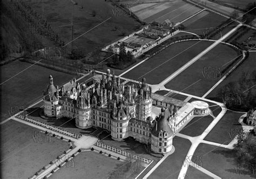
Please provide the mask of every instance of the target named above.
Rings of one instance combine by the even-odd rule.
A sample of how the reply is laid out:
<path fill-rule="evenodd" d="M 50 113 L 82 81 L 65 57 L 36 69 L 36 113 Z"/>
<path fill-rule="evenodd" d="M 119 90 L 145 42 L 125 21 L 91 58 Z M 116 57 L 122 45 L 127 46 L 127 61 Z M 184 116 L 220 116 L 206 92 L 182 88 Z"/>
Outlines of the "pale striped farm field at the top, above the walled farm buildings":
<path fill-rule="evenodd" d="M 153 21 L 163 23 L 166 19 L 178 23 L 200 11 L 200 8 L 183 1 L 173 1 L 166 3 L 139 4 L 133 6 L 131 10 L 147 23 Z"/>

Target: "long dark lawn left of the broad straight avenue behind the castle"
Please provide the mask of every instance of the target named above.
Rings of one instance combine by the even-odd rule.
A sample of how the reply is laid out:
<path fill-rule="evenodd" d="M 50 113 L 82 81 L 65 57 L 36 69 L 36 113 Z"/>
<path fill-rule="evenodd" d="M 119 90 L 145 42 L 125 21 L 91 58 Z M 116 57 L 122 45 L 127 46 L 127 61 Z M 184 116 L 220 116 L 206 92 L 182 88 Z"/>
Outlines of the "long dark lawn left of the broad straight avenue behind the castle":
<path fill-rule="evenodd" d="M 212 42 L 196 43 L 196 41 L 191 41 L 170 45 L 156 56 L 146 60 L 143 64 L 140 64 L 136 68 L 133 68 L 131 71 L 124 74 L 123 77 L 134 80 L 145 77 L 147 83 L 159 84 L 165 78 L 169 77 L 169 75 L 171 75 L 173 72 L 177 71 L 185 63 L 190 61 L 193 57 L 196 57 L 197 54 L 203 51 L 207 46 L 212 44 Z M 190 47 L 190 49 L 188 49 L 188 47 Z M 155 67 L 157 68 L 153 70 Z M 169 87 L 172 89 L 171 85 Z"/>

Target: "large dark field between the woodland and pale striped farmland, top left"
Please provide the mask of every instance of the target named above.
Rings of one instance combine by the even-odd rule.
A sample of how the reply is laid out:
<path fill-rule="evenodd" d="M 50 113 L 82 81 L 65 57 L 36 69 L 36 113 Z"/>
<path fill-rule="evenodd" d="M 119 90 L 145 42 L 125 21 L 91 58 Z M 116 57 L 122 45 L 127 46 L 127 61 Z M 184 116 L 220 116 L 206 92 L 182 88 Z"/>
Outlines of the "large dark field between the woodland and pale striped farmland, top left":
<path fill-rule="evenodd" d="M 73 5 L 69 0 L 45 0 L 44 15 L 52 29 L 65 43 L 71 41 L 72 8 L 74 39 L 110 18 L 73 42 L 75 49 L 77 47 L 82 48 L 85 53 L 95 50 L 96 47 L 103 47 L 105 44 L 120 38 L 122 33 L 127 35 L 140 26 L 132 17 L 127 17 L 123 13 L 120 13 L 122 14 L 120 16 L 114 15 L 116 9 L 110 2 L 100 0 L 76 0 L 75 2 L 77 5 Z M 38 3 L 37 0 L 30 0 L 28 3 L 39 14 L 43 15 L 42 3 Z M 95 11 L 95 17 L 92 16 L 92 11 Z M 113 30 L 114 26 L 117 26 L 118 29 Z"/>

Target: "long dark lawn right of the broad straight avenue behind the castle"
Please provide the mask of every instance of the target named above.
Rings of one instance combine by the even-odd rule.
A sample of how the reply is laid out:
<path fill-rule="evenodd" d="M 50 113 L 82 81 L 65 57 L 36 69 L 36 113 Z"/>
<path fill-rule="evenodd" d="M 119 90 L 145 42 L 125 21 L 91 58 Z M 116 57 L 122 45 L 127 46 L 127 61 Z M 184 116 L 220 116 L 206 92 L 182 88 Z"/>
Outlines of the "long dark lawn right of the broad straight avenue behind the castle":
<path fill-rule="evenodd" d="M 165 87 L 201 97 L 220 80 L 220 72 L 226 67 L 223 65 L 237 56 L 237 52 L 230 46 L 219 44 L 168 82 Z M 210 67 L 213 70 L 208 73 Z"/>

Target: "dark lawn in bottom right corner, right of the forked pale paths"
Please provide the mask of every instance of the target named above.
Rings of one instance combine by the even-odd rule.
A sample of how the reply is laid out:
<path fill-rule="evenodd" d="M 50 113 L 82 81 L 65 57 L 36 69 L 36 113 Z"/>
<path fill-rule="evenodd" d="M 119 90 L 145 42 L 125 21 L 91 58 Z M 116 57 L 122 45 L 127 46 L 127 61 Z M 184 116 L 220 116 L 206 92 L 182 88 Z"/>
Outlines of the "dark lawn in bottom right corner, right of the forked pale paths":
<path fill-rule="evenodd" d="M 233 150 L 200 143 L 194 156 L 200 156 L 202 167 L 221 178 L 250 178 L 250 175 L 239 173 Z M 251 177 L 253 176 L 251 175 Z"/>

